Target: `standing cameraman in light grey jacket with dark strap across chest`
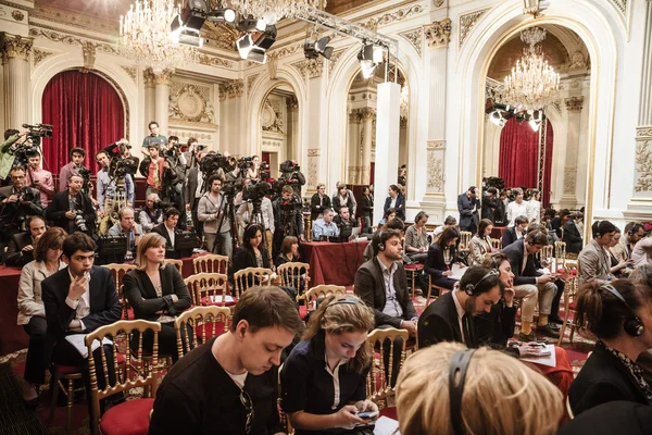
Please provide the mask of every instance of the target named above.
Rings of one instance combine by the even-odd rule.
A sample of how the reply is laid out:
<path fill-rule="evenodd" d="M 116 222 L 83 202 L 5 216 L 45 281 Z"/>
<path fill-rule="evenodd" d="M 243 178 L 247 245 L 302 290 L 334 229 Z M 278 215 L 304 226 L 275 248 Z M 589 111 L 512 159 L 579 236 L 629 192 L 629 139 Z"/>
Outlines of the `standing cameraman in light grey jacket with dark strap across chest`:
<path fill-rule="evenodd" d="M 197 215 L 203 222 L 209 252 L 233 257 L 230 216 L 225 213 L 227 200 L 222 190 L 222 178 L 213 174 L 206 179 L 210 190 L 199 200 Z"/>

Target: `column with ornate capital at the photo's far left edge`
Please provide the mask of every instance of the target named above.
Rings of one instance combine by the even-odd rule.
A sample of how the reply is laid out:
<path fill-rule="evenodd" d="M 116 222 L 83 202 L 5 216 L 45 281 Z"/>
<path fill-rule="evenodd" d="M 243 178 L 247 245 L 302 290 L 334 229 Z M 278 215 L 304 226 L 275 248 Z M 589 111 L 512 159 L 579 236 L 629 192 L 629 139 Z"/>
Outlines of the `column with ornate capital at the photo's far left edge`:
<path fill-rule="evenodd" d="M 32 123 L 29 115 L 29 53 L 33 38 L 0 34 L 4 66 L 4 124 L 20 128 Z"/>

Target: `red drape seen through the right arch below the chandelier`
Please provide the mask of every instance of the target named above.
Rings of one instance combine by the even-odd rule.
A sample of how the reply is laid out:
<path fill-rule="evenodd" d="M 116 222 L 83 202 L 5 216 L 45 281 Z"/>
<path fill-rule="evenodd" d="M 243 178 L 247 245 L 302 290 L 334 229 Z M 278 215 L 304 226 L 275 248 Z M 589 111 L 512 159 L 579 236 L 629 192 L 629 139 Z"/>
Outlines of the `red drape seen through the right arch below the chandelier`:
<path fill-rule="evenodd" d="M 543 167 L 543 191 L 541 204 L 550 203 L 550 169 L 552 165 L 553 132 L 550 122 L 546 130 L 546 165 Z M 498 176 L 505 187 L 537 188 L 539 159 L 539 132 L 534 132 L 527 122 L 518 123 L 512 117 L 500 135 Z"/>

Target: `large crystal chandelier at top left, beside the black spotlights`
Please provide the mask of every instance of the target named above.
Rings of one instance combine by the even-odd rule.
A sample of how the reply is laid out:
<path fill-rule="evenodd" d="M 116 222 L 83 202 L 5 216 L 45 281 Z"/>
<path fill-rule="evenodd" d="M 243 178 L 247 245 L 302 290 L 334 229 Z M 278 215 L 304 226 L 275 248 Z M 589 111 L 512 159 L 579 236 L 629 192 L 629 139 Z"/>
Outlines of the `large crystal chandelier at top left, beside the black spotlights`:
<path fill-rule="evenodd" d="M 170 26 L 179 11 L 174 0 L 136 0 L 135 4 L 120 17 L 118 50 L 123 55 L 156 74 L 196 59 L 196 48 L 172 38 Z"/>

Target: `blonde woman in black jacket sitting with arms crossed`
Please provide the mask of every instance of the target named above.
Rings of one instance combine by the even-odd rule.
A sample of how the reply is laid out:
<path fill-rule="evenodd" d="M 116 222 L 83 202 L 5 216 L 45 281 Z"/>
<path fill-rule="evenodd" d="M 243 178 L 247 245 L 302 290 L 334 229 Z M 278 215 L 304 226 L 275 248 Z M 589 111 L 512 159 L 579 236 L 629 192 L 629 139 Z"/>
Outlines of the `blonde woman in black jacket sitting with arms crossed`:
<path fill-rule="evenodd" d="M 136 270 L 123 278 L 125 297 L 136 319 L 161 323 L 159 352 L 176 361 L 174 321 L 192 300 L 179 271 L 173 264 L 165 264 L 165 238 L 156 233 L 145 235 L 138 244 L 134 264 Z M 148 331 L 142 337 L 142 348 L 151 351 L 152 346 L 153 332 Z M 138 348 L 138 334 L 134 334 L 131 348 Z"/>

